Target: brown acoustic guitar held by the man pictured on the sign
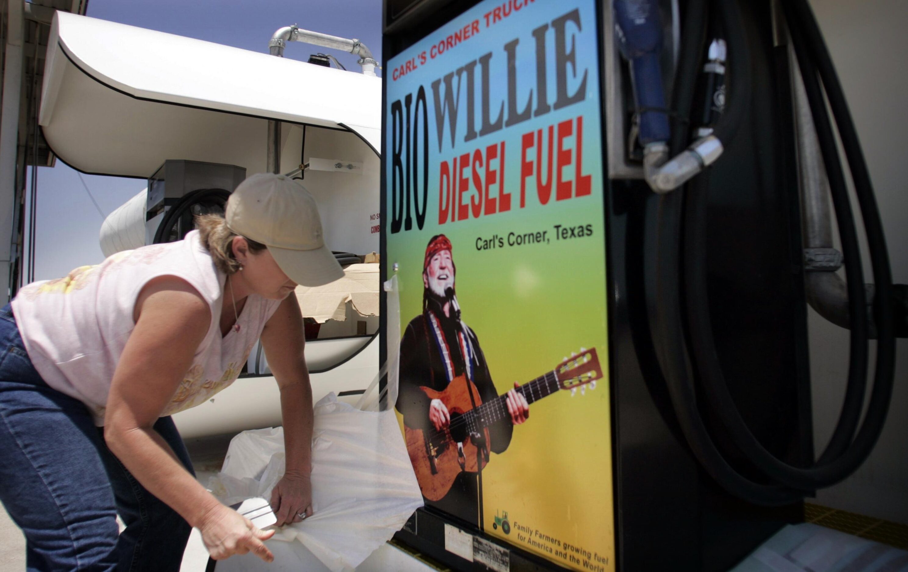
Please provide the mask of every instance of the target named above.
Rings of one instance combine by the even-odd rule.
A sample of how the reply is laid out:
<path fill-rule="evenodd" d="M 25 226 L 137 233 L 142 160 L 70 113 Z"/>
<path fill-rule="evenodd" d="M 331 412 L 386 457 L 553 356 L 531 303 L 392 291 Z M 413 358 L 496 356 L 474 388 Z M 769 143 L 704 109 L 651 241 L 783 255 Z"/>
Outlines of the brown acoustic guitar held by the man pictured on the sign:
<path fill-rule="evenodd" d="M 533 403 L 559 390 L 570 390 L 571 395 L 578 389 L 585 391 L 587 385 L 594 390 L 596 380 L 600 379 L 602 368 L 596 349 L 581 349 L 517 391 L 527 398 L 527 403 Z M 407 450 L 422 496 L 439 500 L 448 494 L 460 472 L 475 473 L 489 462 L 489 426 L 510 418 L 507 394 L 483 403 L 476 385 L 464 376 L 452 380 L 443 391 L 419 389 L 429 399 L 440 399 L 450 413 L 449 426 L 440 431 L 431 424 L 426 430 L 404 426 Z"/>

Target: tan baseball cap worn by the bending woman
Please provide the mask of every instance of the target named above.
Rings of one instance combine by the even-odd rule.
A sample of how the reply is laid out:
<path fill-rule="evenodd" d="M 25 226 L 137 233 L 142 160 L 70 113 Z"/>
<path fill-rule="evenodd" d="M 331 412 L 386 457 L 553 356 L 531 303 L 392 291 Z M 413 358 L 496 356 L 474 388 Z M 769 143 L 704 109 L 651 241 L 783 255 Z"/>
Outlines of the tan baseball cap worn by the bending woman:
<path fill-rule="evenodd" d="M 253 174 L 232 192 L 224 218 L 232 232 L 267 246 L 291 281 L 322 286 L 343 277 L 325 246 L 315 199 L 289 177 Z"/>

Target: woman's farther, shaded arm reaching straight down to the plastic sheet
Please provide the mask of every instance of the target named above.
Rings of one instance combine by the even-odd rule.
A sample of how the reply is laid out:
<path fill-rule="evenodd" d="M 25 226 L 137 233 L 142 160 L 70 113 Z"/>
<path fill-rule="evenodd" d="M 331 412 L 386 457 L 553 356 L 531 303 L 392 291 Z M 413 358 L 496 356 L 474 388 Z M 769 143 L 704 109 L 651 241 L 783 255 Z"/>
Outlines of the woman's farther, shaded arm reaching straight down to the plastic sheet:
<path fill-rule="evenodd" d="M 271 508 L 279 526 L 312 514 L 312 388 L 303 355 L 305 343 L 300 304 L 291 294 L 262 330 L 265 357 L 281 388 L 287 461 L 283 478 L 271 491 Z"/>

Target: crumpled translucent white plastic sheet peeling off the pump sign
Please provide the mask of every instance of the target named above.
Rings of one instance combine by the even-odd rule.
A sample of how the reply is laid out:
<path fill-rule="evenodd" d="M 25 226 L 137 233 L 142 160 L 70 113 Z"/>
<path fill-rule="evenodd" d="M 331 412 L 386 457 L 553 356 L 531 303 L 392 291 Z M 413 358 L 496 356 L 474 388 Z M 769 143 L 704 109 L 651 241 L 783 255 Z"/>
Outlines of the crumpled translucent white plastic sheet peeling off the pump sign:
<path fill-rule="evenodd" d="M 396 281 L 390 281 L 388 290 L 389 305 L 396 309 Z M 388 335 L 395 342 L 389 351 L 392 359 L 379 377 L 386 370 L 393 375 L 381 391 L 378 380 L 373 382 L 361 408 L 377 408 L 385 395 L 391 398 L 385 402 L 393 403 L 397 396 L 400 319 L 396 311 L 388 314 L 393 330 Z M 274 538 L 299 540 L 332 572 L 351 570 L 422 506 L 419 483 L 393 407 L 363 410 L 331 393 L 315 405 L 313 419 L 313 515 L 281 528 Z M 271 488 L 283 472 L 283 429 L 244 431 L 232 439 L 222 472 L 209 487 L 228 505 L 251 497 L 271 498 Z"/>

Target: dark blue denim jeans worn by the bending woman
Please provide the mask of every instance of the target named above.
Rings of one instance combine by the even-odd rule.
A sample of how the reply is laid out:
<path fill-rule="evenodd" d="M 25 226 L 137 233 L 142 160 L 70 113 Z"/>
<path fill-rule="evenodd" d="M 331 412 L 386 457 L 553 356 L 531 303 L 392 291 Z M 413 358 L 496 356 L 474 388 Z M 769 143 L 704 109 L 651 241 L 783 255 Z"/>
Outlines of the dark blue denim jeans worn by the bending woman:
<path fill-rule="evenodd" d="M 192 472 L 173 420 L 154 429 Z M 44 383 L 8 304 L 0 310 L 0 459 L 0 501 L 25 533 L 28 570 L 180 569 L 190 526 L 107 449 L 81 401 Z"/>

